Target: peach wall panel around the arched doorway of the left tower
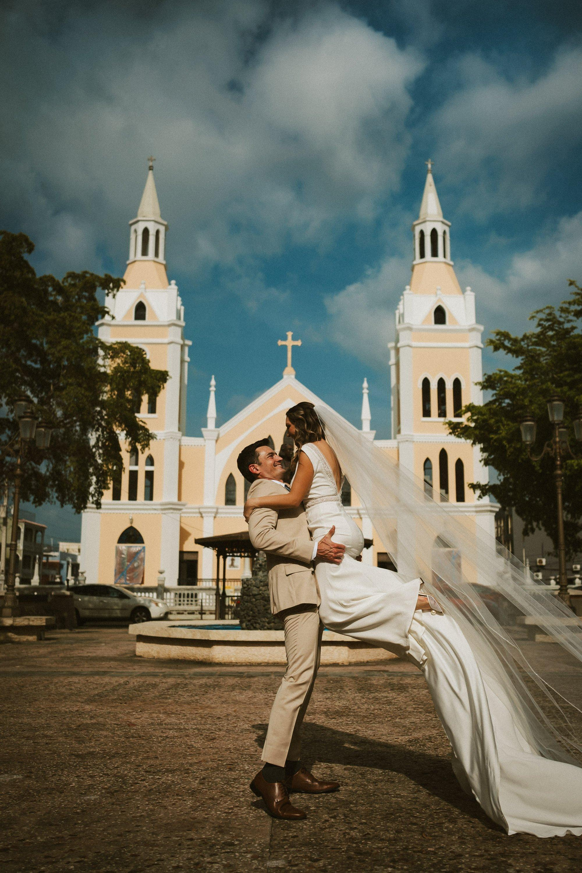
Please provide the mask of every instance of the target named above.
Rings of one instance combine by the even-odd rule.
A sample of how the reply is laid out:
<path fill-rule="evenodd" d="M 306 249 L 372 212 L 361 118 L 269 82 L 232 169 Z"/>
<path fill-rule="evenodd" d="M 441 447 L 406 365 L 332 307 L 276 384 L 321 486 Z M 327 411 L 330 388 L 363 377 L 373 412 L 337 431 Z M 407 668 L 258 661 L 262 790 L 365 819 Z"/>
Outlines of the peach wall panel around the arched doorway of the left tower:
<path fill-rule="evenodd" d="M 161 516 L 154 513 L 131 513 L 146 545 L 144 584 L 157 585 L 160 567 Z M 113 585 L 115 576 L 115 546 L 122 531 L 129 527 L 130 512 L 101 512 L 99 540 L 99 582 Z"/>

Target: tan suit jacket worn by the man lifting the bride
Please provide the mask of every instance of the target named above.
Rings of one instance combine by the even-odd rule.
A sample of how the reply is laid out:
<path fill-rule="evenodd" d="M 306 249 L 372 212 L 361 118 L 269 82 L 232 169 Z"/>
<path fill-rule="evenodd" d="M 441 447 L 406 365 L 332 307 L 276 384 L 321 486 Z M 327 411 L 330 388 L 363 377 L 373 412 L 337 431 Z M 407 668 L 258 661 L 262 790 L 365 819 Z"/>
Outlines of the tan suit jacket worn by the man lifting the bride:
<path fill-rule="evenodd" d="M 255 479 L 249 497 L 281 494 L 271 479 Z M 311 566 L 313 543 L 305 509 L 256 509 L 249 519 L 250 542 L 267 554 L 270 608 L 274 614 L 301 603 L 319 605 L 319 592 Z"/>

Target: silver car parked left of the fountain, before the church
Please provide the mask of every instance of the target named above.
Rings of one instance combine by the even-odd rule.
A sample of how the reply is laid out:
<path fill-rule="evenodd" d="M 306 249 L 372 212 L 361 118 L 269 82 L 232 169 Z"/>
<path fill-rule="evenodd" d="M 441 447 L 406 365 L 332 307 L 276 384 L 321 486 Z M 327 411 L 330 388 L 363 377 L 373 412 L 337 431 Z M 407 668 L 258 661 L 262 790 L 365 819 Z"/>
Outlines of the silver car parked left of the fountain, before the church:
<path fill-rule="evenodd" d="M 72 585 L 69 591 L 79 625 L 91 618 L 117 618 L 138 624 L 168 615 L 168 603 L 154 597 L 138 597 L 119 585 Z"/>

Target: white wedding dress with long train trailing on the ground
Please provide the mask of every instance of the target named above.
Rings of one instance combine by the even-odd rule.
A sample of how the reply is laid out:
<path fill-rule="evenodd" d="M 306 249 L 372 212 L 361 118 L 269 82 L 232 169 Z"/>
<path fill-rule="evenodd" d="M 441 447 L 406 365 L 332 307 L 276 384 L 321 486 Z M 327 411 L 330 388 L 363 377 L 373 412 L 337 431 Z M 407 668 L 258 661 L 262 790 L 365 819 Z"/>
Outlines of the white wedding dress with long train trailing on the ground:
<path fill-rule="evenodd" d="M 420 579 L 402 581 L 355 560 L 364 538 L 341 505 L 332 469 L 312 443 L 302 450 L 313 466 L 304 500 L 312 538 L 334 525 L 332 539 L 346 546 L 341 564 L 316 568 L 325 627 L 406 655 L 421 669 L 456 778 L 508 834 L 582 835 L 582 768 L 537 753 L 509 688 L 488 684 L 453 618 L 414 611 Z"/>

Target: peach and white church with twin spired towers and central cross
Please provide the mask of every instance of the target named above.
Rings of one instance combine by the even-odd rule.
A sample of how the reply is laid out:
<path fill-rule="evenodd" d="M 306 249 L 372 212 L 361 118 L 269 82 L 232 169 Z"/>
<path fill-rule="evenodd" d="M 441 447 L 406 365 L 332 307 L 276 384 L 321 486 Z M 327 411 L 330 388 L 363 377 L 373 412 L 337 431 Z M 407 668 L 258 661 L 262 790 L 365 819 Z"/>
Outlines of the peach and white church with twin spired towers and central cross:
<path fill-rule="evenodd" d="M 412 230 L 414 260 L 410 285 L 396 307 L 394 341 L 387 337 L 391 383 L 392 438 L 375 439 L 367 383 L 362 387 L 359 427 L 380 450 L 440 493 L 450 512 L 495 535 L 489 498 L 477 499 L 469 482 L 487 481 L 479 450 L 448 434 L 446 420 L 458 418 L 465 403 L 483 402 L 483 326 L 476 323 L 475 294 L 462 291 L 451 259 L 450 222 L 442 215 L 431 162 Z M 110 314 L 99 321 L 99 338 L 144 349 L 153 368 L 168 370 L 161 394 L 143 397 L 136 410 L 154 432 L 143 455 L 124 450 L 124 470 L 103 496 L 100 509 L 83 512 L 81 570 L 87 582 L 155 586 L 163 571 L 166 586 L 209 584 L 216 577 L 212 549 L 195 540 L 246 530 L 245 481 L 236 457 L 247 443 L 266 435 L 284 443 L 285 411 L 295 403 L 325 402 L 298 381 L 287 333 L 287 366 L 282 378 L 220 427 L 216 427 L 216 383 L 209 385 L 207 424 L 187 436 L 186 394 L 190 341 L 178 287 L 168 282 L 165 259 L 168 223 L 161 217 L 153 159 L 137 216 L 129 222 L 125 284 L 106 299 Z M 220 386 L 218 386 L 220 389 Z M 248 487 L 248 485 L 247 485 Z M 342 501 L 373 545 L 363 560 L 391 566 L 358 495 L 346 488 Z M 135 546 L 139 546 L 136 548 Z M 250 560 L 229 558 L 227 586 L 250 575 Z"/>

